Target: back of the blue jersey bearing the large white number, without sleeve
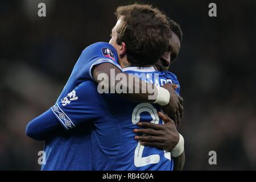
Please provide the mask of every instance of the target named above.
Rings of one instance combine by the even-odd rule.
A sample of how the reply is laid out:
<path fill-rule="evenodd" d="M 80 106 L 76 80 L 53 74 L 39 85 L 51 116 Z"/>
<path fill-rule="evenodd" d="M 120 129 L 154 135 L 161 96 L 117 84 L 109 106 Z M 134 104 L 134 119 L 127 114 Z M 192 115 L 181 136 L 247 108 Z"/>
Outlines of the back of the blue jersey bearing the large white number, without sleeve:
<path fill-rule="evenodd" d="M 155 71 L 154 67 L 137 68 L 129 67 L 124 68 L 124 72 L 133 73 L 147 82 L 155 85 L 162 86 L 167 82 L 179 85 L 176 76 L 171 72 Z M 179 93 L 179 88 L 176 90 Z M 158 148 L 142 146 L 137 140 L 134 139 L 135 133 L 133 130 L 138 128 L 139 121 L 147 121 L 163 125 L 163 121 L 158 116 L 160 107 L 158 104 L 149 103 L 135 103 L 127 101 L 116 94 L 103 94 L 108 111 L 113 118 L 117 120 L 117 126 L 121 131 L 120 133 L 109 133 L 105 131 L 107 122 L 94 123 L 96 126 L 91 135 L 92 140 L 92 164 L 96 170 L 167 170 L 173 169 L 173 160 L 171 153 L 162 151 Z M 115 161 L 108 158 L 108 154 L 104 152 L 106 143 L 101 142 L 98 131 L 101 130 L 101 135 L 104 133 L 112 134 L 113 139 L 119 146 L 119 152 Z M 119 134 L 119 135 L 118 135 Z M 106 168 L 106 161 L 108 160 L 111 165 Z"/>

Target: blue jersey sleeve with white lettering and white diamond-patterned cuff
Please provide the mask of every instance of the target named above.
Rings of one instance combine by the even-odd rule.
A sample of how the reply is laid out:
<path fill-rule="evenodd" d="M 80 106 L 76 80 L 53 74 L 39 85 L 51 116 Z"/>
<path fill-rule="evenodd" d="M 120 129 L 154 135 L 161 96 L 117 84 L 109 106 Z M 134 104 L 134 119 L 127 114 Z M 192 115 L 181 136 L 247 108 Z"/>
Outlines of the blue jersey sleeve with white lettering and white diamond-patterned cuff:
<path fill-rule="evenodd" d="M 95 122 L 108 117 L 108 107 L 97 92 L 93 81 L 84 81 L 67 96 L 56 102 L 51 110 L 58 121 L 67 130 L 85 122 Z"/>

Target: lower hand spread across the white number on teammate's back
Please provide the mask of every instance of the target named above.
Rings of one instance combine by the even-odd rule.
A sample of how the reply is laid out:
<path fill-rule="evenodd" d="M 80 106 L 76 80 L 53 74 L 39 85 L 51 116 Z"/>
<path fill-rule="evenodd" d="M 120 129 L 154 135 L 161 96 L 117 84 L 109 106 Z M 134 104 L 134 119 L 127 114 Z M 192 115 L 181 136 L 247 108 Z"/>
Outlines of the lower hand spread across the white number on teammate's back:
<path fill-rule="evenodd" d="M 134 129 L 134 133 L 143 135 L 135 136 L 135 140 L 139 140 L 143 146 L 171 151 L 179 142 L 179 133 L 171 118 L 161 112 L 158 112 L 158 115 L 165 124 L 158 125 L 150 122 L 139 122 L 138 126 L 143 127 L 143 129 Z"/>

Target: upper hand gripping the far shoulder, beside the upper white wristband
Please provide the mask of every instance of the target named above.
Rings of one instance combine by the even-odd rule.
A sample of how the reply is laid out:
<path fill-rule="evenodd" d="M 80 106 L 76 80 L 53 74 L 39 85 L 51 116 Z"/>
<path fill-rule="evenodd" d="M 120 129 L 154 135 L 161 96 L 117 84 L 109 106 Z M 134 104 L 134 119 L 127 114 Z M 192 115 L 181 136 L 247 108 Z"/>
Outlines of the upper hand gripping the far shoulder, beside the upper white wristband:
<path fill-rule="evenodd" d="M 183 117 L 183 98 L 180 97 L 176 92 L 176 84 L 165 84 L 162 86 L 167 89 L 170 93 L 170 101 L 167 105 L 161 106 L 161 109 L 166 113 L 171 119 L 174 120 L 176 126 L 180 126 L 180 118 Z"/>

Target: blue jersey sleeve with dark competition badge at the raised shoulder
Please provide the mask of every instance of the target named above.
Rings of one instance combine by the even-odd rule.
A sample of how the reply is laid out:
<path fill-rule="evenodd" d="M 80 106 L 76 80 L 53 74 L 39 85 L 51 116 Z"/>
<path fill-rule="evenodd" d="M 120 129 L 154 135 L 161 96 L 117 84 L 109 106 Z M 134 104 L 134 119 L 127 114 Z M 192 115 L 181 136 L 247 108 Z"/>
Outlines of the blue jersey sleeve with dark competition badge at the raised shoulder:
<path fill-rule="evenodd" d="M 98 42 L 86 47 L 73 69 L 75 78 L 93 80 L 93 67 L 102 63 L 113 64 L 122 71 L 122 68 L 118 64 L 117 52 L 111 44 Z"/>

